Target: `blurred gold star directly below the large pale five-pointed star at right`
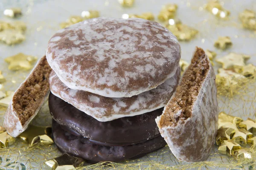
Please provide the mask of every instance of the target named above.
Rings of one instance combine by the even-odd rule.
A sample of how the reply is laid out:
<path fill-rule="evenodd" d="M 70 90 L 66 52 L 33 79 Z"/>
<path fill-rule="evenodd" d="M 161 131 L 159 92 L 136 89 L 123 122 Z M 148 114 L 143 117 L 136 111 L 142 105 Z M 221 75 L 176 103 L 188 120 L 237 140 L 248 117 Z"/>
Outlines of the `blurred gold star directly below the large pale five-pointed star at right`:
<path fill-rule="evenodd" d="M 223 68 L 218 69 L 218 74 L 216 75 L 216 85 L 217 86 L 224 86 L 230 88 L 232 85 L 234 90 L 238 86 L 241 86 L 246 81 L 246 77 L 241 74 L 238 74 L 234 71 L 225 70 Z"/>

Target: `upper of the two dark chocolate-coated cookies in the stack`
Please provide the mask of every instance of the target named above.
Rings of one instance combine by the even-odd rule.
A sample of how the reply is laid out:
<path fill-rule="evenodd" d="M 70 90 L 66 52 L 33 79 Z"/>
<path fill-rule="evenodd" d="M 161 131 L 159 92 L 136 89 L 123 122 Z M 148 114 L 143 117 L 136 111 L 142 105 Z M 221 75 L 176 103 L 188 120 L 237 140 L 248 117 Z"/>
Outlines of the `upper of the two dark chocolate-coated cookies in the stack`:
<path fill-rule="evenodd" d="M 65 130 L 107 146 L 136 144 L 159 136 L 155 119 L 163 112 L 163 108 L 160 108 L 138 116 L 99 122 L 53 94 L 49 95 L 49 110 L 52 118 Z"/>

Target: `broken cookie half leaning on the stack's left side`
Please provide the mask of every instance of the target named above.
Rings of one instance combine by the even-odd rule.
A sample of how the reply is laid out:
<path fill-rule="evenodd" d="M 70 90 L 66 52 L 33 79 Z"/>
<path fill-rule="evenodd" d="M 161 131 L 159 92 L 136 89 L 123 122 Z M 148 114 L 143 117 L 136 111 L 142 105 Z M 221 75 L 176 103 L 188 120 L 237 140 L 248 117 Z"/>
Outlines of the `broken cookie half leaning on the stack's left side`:
<path fill-rule="evenodd" d="M 15 92 L 6 111 L 4 126 L 9 134 L 18 136 L 39 111 L 49 94 L 50 68 L 44 56 Z"/>

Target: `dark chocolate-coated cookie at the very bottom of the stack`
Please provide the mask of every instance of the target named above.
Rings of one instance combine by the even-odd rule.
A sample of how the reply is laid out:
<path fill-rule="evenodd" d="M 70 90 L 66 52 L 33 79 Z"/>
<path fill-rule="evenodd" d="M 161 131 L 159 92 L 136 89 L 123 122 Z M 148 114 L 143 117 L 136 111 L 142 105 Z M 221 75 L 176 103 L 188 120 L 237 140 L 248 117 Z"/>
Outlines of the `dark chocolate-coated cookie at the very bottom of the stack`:
<path fill-rule="evenodd" d="M 99 161 L 123 161 L 143 156 L 166 145 L 162 136 L 157 136 L 145 142 L 128 146 L 102 146 L 89 142 L 83 136 L 75 136 L 63 130 L 54 120 L 52 121 L 52 134 L 55 144 L 62 152 L 83 159 Z"/>

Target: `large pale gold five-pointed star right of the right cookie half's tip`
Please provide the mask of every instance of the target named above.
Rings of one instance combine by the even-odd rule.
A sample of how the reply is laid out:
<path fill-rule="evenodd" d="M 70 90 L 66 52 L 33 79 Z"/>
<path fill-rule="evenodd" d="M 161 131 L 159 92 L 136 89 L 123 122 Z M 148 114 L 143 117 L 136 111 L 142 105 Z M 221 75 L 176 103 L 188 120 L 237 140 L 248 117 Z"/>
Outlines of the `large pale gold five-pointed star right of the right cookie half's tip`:
<path fill-rule="evenodd" d="M 245 62 L 250 59 L 249 55 L 230 53 L 227 56 L 216 59 L 216 62 L 222 65 L 222 68 L 242 68 Z"/>

